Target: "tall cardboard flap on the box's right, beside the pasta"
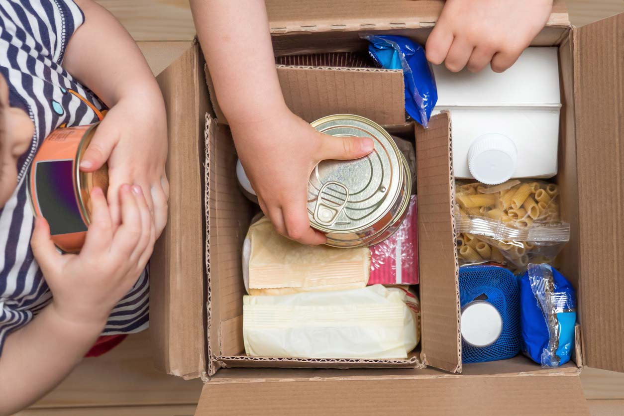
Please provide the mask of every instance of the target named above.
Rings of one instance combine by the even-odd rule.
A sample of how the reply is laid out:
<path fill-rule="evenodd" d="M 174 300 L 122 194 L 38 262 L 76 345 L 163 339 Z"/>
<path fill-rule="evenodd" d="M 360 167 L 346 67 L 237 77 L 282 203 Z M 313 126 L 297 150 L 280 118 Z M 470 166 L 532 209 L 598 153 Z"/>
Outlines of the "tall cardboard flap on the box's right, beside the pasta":
<path fill-rule="evenodd" d="M 583 359 L 624 372 L 624 14 L 573 36 Z"/>

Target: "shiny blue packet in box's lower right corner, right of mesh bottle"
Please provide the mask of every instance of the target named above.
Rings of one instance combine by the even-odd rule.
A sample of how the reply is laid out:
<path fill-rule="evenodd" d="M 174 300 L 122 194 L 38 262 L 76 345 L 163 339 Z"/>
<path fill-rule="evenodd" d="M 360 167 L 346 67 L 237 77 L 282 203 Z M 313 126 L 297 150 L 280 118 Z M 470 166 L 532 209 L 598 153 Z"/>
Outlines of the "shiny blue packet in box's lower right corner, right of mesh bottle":
<path fill-rule="evenodd" d="M 522 351 L 542 367 L 558 367 L 574 349 L 577 303 L 572 284 L 548 264 L 530 263 L 520 279 Z"/>

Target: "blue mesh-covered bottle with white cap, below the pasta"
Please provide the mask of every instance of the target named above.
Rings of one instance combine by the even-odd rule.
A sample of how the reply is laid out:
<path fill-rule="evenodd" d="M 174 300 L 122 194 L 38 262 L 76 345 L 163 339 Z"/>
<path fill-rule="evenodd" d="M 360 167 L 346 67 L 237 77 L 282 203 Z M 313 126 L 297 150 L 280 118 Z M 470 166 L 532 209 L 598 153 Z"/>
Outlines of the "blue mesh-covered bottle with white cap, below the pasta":
<path fill-rule="evenodd" d="M 520 352 L 520 289 L 509 270 L 494 265 L 459 269 L 462 362 L 504 360 Z"/>

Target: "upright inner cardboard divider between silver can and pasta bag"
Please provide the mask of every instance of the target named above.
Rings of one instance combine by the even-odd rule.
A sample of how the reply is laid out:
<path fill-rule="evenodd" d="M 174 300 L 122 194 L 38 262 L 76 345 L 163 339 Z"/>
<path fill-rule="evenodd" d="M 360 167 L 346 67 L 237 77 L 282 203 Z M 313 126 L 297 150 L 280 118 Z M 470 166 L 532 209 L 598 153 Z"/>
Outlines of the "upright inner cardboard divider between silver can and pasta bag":
<path fill-rule="evenodd" d="M 427 365 L 459 372 L 459 266 L 452 218 L 451 122 L 447 113 L 433 117 L 427 129 L 417 125 L 416 158 L 422 357 Z"/>

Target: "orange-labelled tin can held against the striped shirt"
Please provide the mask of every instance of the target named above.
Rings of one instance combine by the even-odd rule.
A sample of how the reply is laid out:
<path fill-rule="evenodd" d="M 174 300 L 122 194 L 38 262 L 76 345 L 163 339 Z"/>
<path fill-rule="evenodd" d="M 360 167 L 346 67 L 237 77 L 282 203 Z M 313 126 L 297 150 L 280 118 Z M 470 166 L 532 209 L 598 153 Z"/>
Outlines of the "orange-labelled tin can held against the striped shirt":
<path fill-rule="evenodd" d="M 89 198 L 99 186 L 108 189 L 108 167 L 80 172 L 84 155 L 97 123 L 57 128 L 39 147 L 29 171 L 29 198 L 35 215 L 46 218 L 52 241 L 66 253 L 77 253 L 90 224 Z"/>

